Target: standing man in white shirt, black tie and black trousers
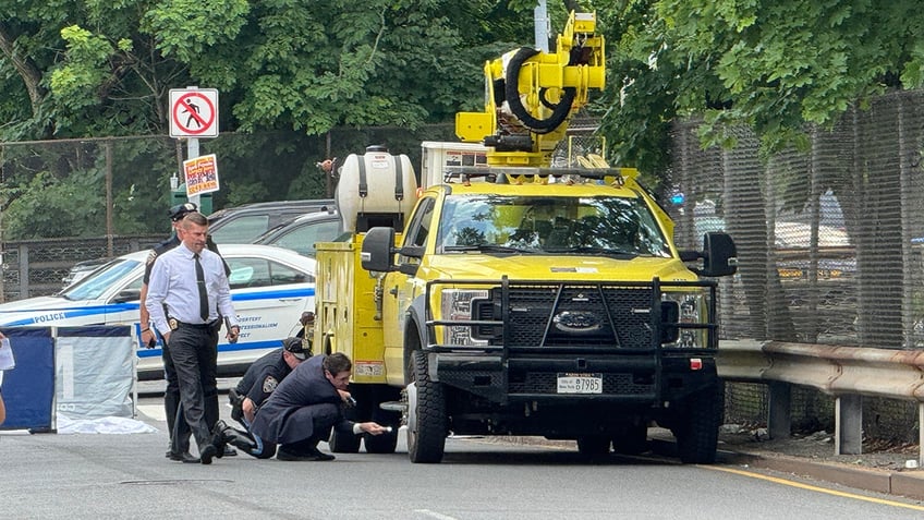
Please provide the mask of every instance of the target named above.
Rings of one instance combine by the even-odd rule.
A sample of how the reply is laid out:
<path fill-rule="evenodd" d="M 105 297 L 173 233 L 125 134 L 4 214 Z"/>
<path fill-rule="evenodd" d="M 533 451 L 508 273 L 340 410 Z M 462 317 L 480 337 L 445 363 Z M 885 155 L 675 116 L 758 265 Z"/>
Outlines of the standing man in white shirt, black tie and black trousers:
<path fill-rule="evenodd" d="M 182 243 L 154 264 L 145 306 L 151 326 L 169 344 L 183 415 L 199 448 L 198 459 L 187 456 L 182 460 L 210 464 L 214 457 L 222 455 L 216 452 L 205 418 L 206 396 L 217 392 L 221 318 L 228 321 L 229 340 L 236 340 L 241 329 L 231 305 L 224 264 L 206 249 L 208 220 L 200 213 L 191 213 L 183 217 L 178 232 Z M 177 446 L 172 448 L 179 452 Z"/>

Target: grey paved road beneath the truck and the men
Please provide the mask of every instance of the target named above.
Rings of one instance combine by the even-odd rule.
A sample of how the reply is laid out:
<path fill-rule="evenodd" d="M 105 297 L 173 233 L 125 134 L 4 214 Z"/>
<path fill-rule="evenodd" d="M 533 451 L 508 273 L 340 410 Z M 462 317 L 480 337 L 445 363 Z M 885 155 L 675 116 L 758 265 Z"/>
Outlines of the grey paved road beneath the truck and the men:
<path fill-rule="evenodd" d="M 159 407 L 159 397 L 143 394 L 139 419 L 157 433 L 0 435 L 0 518 L 924 517 L 911 501 L 826 491 L 740 464 L 680 465 L 657 456 L 588 463 L 573 448 L 478 438 L 450 438 L 441 464 L 410 463 L 403 440 L 393 455 L 339 454 L 332 462 L 239 455 L 182 464 L 163 457 Z"/>

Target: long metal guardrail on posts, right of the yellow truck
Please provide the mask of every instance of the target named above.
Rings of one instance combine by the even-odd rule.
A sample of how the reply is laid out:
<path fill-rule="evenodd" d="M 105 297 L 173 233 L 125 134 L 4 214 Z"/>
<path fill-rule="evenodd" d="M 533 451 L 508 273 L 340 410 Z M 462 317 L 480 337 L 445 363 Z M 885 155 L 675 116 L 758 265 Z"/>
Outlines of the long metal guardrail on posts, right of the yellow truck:
<path fill-rule="evenodd" d="M 862 396 L 917 402 L 919 464 L 924 465 L 924 351 L 781 341 L 719 342 L 719 376 L 770 388 L 770 436 L 789 435 L 790 385 L 836 399 L 835 454 L 860 454 Z"/>

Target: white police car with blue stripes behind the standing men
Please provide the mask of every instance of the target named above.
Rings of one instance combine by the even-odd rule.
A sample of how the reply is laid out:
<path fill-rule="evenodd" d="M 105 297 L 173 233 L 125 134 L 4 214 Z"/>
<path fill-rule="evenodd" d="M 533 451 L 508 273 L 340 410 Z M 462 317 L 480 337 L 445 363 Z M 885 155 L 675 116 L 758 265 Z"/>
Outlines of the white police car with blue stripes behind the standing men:
<path fill-rule="evenodd" d="M 243 374 L 247 366 L 280 341 L 295 336 L 304 311 L 314 312 L 315 261 L 271 245 L 222 244 L 221 255 L 231 269 L 231 299 L 241 324 L 235 343 L 219 334 L 218 373 Z M 53 297 L 39 297 L 0 305 L 2 327 L 63 327 L 131 324 L 138 355 L 138 378 L 163 377 L 160 343 L 141 344 L 138 299 L 149 251 L 112 259 L 92 275 Z"/>

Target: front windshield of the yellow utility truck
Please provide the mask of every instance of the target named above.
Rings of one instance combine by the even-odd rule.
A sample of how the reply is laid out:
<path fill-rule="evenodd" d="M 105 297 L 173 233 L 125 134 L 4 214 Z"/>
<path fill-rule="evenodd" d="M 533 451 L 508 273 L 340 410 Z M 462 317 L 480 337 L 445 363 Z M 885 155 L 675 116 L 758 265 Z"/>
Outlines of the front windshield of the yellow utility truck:
<path fill-rule="evenodd" d="M 519 253 L 669 257 L 670 247 L 640 198 L 451 195 L 440 218 L 446 253 Z"/>

